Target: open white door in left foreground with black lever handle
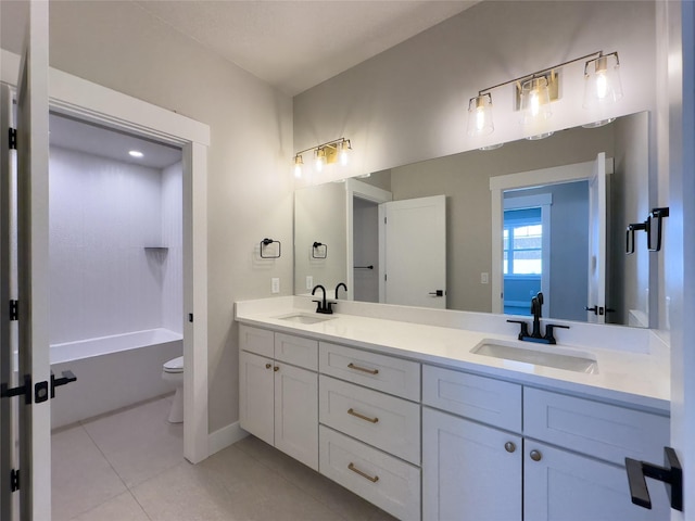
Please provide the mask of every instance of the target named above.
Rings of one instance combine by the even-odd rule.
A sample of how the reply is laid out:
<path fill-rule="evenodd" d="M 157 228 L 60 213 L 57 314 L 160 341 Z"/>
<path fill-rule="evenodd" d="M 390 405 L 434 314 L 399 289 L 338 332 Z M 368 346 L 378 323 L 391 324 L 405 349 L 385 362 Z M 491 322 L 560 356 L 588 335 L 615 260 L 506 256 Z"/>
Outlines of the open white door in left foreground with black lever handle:
<path fill-rule="evenodd" d="M 22 519 L 51 519 L 51 409 L 48 309 L 48 2 L 29 2 L 17 84 L 17 276 Z M 4 303 L 3 303 L 4 306 Z"/>

